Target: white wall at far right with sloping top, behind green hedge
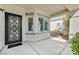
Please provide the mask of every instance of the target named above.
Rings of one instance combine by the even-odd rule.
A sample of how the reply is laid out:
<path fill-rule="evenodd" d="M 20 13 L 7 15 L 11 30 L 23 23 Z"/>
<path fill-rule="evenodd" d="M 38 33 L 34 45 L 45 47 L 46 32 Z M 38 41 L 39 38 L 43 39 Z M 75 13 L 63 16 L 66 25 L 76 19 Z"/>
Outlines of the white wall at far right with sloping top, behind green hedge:
<path fill-rule="evenodd" d="M 79 32 L 79 11 L 70 19 L 69 38 L 75 36 L 76 32 Z"/>

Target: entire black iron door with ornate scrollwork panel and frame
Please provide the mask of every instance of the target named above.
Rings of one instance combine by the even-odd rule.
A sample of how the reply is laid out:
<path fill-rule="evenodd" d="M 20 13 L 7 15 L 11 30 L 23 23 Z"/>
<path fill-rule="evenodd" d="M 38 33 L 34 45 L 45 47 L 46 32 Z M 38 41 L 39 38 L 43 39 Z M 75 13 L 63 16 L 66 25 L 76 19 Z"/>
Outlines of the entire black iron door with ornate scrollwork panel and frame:
<path fill-rule="evenodd" d="M 5 12 L 5 45 L 22 42 L 22 16 Z"/>

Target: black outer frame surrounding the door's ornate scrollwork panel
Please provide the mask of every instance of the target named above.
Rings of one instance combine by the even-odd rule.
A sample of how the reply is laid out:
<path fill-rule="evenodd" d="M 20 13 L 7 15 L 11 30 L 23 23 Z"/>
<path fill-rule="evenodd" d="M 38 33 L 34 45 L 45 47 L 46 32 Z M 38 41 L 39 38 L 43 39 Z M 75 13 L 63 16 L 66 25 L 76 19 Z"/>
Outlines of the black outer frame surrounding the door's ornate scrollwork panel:
<path fill-rule="evenodd" d="M 8 41 L 8 15 L 20 17 L 20 39 L 19 40 Z M 13 43 L 17 43 L 17 42 L 22 42 L 22 16 L 13 14 L 13 13 L 9 13 L 9 12 L 5 12 L 5 45 L 13 44 Z"/>

